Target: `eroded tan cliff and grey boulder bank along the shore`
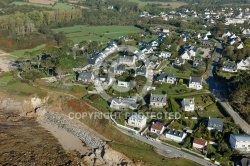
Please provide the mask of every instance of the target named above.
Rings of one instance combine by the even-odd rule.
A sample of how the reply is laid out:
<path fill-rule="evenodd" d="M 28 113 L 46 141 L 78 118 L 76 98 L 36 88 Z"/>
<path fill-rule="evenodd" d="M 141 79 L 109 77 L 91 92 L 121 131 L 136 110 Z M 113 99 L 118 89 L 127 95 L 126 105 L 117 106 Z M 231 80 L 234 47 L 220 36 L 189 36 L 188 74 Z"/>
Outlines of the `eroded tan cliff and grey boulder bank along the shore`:
<path fill-rule="evenodd" d="M 50 101 L 51 100 L 57 101 L 56 98 L 53 98 L 53 99 L 50 98 Z M 63 100 L 61 100 L 60 102 L 62 101 Z M 56 103 L 55 110 L 57 111 L 55 112 L 52 110 L 53 107 L 49 109 L 46 107 L 47 102 L 49 102 L 49 98 L 40 99 L 35 96 L 30 96 L 30 97 L 18 96 L 17 97 L 17 96 L 4 94 L 3 92 L 0 92 L 0 111 L 2 110 L 1 112 L 4 112 L 6 114 L 15 113 L 18 115 L 18 117 L 24 117 L 24 118 L 39 117 L 44 122 L 57 126 L 60 130 L 67 131 L 68 133 L 74 136 L 77 136 L 81 141 L 83 141 L 87 145 L 87 147 L 89 147 L 90 150 L 85 155 L 78 156 L 77 162 L 81 162 L 83 165 L 103 165 L 103 166 L 104 165 L 107 165 L 107 166 L 110 166 L 110 165 L 132 166 L 134 165 L 133 162 L 130 159 L 128 159 L 125 155 L 117 151 L 114 151 L 112 148 L 110 148 L 102 138 L 93 134 L 91 131 L 87 130 L 86 128 L 82 128 L 82 125 L 78 123 L 74 123 L 70 121 L 68 117 L 60 114 L 60 111 L 58 110 L 61 109 L 59 105 L 61 105 L 62 103 L 60 102 Z M 34 118 L 31 118 L 31 119 L 34 120 Z M 32 127 L 32 126 L 26 126 L 26 128 L 27 127 Z M 25 135 L 25 132 L 23 134 Z M 34 139 L 34 138 L 30 138 L 30 139 Z M 0 140 L 1 140 L 1 136 L 0 136 Z M 43 139 L 40 139 L 40 140 L 42 144 Z M 44 139 L 44 141 L 46 142 L 46 139 Z M 11 148 L 11 145 L 9 148 Z M 8 146 L 6 146 L 6 151 L 8 151 Z M 23 152 L 20 152 L 20 153 L 23 153 Z"/>

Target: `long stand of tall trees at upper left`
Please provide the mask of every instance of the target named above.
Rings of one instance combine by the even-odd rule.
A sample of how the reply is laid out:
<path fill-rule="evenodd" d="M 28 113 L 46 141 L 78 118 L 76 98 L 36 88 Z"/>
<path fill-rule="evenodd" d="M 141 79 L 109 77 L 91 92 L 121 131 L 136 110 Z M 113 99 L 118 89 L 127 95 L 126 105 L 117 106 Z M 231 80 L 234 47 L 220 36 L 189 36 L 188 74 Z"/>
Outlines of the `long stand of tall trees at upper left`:
<path fill-rule="evenodd" d="M 17 12 L 11 15 L 0 16 L 0 29 L 8 30 L 17 35 L 25 35 L 35 32 L 41 26 L 79 20 L 82 10 L 53 10 L 32 11 L 29 13 Z"/>

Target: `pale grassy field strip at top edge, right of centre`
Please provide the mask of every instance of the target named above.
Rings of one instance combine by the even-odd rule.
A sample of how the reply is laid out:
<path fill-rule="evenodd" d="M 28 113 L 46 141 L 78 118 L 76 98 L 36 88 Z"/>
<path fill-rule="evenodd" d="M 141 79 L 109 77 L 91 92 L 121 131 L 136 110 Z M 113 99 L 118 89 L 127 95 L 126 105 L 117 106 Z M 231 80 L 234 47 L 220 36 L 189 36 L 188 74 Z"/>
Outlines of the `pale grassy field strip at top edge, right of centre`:
<path fill-rule="evenodd" d="M 141 7 L 143 7 L 143 6 L 147 5 L 147 4 L 161 4 L 162 6 L 159 6 L 159 7 L 173 8 L 173 9 L 184 6 L 184 5 L 187 5 L 186 2 L 157 2 L 157 1 L 143 2 L 143 1 L 140 1 L 140 0 L 129 0 L 129 2 L 138 3 L 139 6 L 141 6 Z"/>

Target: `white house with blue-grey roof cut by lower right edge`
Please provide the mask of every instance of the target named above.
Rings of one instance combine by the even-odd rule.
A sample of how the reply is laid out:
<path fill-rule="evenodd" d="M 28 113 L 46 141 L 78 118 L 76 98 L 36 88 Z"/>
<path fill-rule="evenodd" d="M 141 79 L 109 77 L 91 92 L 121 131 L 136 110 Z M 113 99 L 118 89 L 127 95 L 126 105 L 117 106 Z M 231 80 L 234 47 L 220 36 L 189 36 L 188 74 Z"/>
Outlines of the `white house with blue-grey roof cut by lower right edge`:
<path fill-rule="evenodd" d="M 241 152 L 250 152 L 250 136 L 245 134 L 230 134 L 230 145 Z"/>

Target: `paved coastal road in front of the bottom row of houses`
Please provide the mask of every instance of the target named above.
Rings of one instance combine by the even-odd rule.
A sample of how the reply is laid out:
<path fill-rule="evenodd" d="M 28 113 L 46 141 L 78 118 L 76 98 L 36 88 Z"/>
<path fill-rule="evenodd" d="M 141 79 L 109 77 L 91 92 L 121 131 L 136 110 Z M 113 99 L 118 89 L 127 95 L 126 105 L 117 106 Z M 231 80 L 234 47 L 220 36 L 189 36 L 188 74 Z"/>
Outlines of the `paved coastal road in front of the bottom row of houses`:
<path fill-rule="evenodd" d="M 154 146 L 155 148 L 157 148 L 158 151 L 161 151 L 163 152 L 162 155 L 164 155 L 165 157 L 182 157 L 182 158 L 186 158 L 188 160 L 191 160 L 191 161 L 194 161 L 196 163 L 199 163 L 201 165 L 204 165 L 204 166 L 215 166 L 214 164 L 212 164 L 211 162 L 207 161 L 207 160 L 204 160 L 202 158 L 199 158 L 199 157 L 196 157 L 192 154 L 189 154 L 189 153 L 186 153 L 184 151 L 181 151 L 179 149 L 175 149 L 173 147 L 170 147 L 170 146 L 167 146 L 167 145 L 163 145 L 159 142 L 156 142 L 156 141 L 151 141 L 151 140 L 148 140 L 146 137 L 144 136 L 141 136 L 139 134 L 131 134 L 128 132 L 128 130 L 125 130 L 125 129 L 121 129 L 121 128 L 118 128 L 116 127 L 119 131 L 121 131 L 122 133 L 126 134 L 126 135 L 129 135 L 137 140 L 140 140 L 142 142 L 145 142 L 149 145 L 152 145 Z M 171 152 L 171 155 L 168 154 L 168 152 Z"/>

